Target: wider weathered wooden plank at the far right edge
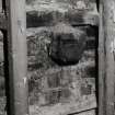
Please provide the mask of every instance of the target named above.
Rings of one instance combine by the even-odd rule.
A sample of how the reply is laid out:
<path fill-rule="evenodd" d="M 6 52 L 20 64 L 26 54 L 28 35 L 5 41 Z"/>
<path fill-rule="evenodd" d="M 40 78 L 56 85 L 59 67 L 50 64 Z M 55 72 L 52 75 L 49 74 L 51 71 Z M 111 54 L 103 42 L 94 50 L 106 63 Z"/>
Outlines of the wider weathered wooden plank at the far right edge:
<path fill-rule="evenodd" d="M 115 104 L 115 1 L 104 0 L 104 38 L 105 38 L 105 114 L 114 115 Z"/>

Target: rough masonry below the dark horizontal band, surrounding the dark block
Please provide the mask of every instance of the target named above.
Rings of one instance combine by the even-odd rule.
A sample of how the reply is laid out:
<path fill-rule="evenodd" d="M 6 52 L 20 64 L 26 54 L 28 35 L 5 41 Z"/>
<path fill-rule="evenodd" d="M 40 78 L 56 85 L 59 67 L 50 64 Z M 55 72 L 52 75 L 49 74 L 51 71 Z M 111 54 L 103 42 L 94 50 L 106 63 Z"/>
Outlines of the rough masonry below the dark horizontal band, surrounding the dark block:
<path fill-rule="evenodd" d="M 53 37 L 51 27 L 28 28 L 28 78 L 32 113 L 34 113 L 34 105 L 44 115 L 47 115 L 48 110 L 51 110 L 49 115 L 53 115 L 54 111 L 59 115 L 60 113 L 68 114 L 72 111 L 79 112 L 96 107 L 96 30 L 91 26 L 80 27 L 80 30 L 87 33 L 87 46 L 81 59 L 77 65 L 59 66 L 48 56 L 47 48 Z M 56 111 L 57 107 L 59 111 Z"/>

